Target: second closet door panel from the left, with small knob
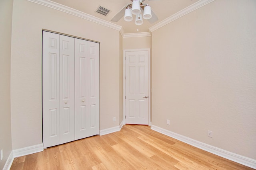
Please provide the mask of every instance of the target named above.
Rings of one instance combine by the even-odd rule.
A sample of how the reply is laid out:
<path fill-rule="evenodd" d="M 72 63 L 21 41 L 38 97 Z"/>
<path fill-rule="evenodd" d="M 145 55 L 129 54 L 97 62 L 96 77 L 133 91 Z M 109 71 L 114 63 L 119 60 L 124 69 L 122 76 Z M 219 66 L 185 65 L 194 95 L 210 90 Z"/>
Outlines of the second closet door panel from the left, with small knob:
<path fill-rule="evenodd" d="M 74 38 L 60 35 L 60 144 L 75 140 Z"/>

